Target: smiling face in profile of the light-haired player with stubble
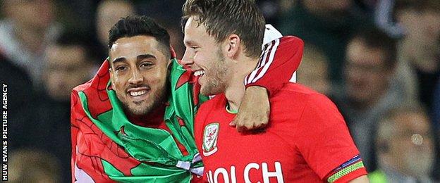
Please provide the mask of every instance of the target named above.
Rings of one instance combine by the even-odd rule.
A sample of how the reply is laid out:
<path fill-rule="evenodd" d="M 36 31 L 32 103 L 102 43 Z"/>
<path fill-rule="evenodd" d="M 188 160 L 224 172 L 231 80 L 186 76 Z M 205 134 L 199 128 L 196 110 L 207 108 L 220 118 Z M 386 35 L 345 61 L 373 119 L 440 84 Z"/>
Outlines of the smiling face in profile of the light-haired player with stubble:
<path fill-rule="evenodd" d="M 216 43 L 204 25 L 198 25 L 194 17 L 185 24 L 184 42 L 186 50 L 182 61 L 199 77 L 200 93 L 208 96 L 224 92 L 230 74 L 221 44 Z"/>

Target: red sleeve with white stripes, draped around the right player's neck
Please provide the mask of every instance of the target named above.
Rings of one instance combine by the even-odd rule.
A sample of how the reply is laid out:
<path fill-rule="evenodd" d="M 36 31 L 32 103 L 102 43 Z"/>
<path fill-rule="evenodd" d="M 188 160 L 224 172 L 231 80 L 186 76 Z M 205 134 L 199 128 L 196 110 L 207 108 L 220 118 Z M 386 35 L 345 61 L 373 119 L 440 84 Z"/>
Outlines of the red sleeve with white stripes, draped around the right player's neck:
<path fill-rule="evenodd" d="M 283 84 L 295 82 L 304 42 L 298 37 L 286 36 L 264 45 L 257 68 L 245 77 L 246 87 L 259 86 L 274 94 Z"/>

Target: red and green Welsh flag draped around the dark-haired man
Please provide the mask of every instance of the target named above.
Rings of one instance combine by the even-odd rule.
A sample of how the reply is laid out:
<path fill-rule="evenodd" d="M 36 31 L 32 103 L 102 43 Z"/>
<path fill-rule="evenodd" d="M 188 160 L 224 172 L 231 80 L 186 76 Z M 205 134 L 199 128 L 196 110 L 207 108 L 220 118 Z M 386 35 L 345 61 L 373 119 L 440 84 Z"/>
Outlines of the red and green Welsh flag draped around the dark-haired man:
<path fill-rule="evenodd" d="M 75 87 L 71 96 L 73 182 L 190 182 L 192 172 L 201 175 L 193 125 L 199 100 L 207 98 L 194 92 L 198 89 L 191 77 L 173 54 L 164 115 L 171 135 L 128 121 L 111 89 L 109 61 L 104 61 L 97 75 Z M 174 139 L 185 146 L 187 156 Z"/>

